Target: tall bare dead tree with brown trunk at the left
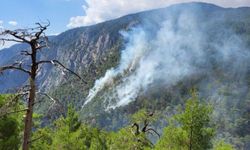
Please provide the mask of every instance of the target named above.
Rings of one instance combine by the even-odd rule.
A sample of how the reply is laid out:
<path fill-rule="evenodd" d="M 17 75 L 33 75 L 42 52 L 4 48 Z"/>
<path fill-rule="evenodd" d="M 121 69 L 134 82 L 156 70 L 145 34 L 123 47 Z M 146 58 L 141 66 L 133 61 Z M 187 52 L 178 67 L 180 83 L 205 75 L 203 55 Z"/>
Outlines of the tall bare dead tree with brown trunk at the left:
<path fill-rule="evenodd" d="M 29 149 L 30 135 L 32 132 L 32 114 L 33 106 L 36 100 L 37 86 L 36 78 L 40 67 L 43 64 L 52 64 L 54 66 L 63 68 L 64 71 L 68 71 L 76 75 L 81 81 L 86 83 L 82 78 L 75 72 L 66 68 L 62 63 L 57 60 L 38 60 L 38 53 L 48 47 L 48 37 L 45 34 L 45 30 L 50 26 L 50 23 L 36 23 L 34 28 L 17 29 L 17 30 L 3 30 L 0 32 L 0 41 L 5 42 L 12 41 L 17 43 L 26 43 L 30 49 L 21 51 L 22 56 L 29 57 L 31 64 L 29 67 L 24 67 L 24 62 L 15 62 L 11 65 L 0 67 L 0 73 L 7 70 L 19 70 L 29 75 L 29 90 L 28 90 L 28 102 L 25 116 L 25 127 L 23 137 L 23 150 Z M 46 95 L 47 96 L 47 95 Z M 54 99 L 53 99 L 54 100 Z"/>

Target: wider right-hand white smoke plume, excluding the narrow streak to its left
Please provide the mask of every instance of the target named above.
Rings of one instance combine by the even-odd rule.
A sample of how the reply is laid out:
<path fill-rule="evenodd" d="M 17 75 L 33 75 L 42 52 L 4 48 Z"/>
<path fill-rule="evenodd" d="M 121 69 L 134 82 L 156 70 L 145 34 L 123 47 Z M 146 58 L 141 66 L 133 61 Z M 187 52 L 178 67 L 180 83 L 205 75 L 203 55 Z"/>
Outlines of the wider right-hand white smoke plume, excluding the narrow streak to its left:
<path fill-rule="evenodd" d="M 163 23 L 156 39 L 150 41 L 152 48 L 144 53 L 136 70 L 114 88 L 117 103 L 111 104 L 109 108 L 127 105 L 151 84 L 164 82 L 166 86 L 170 86 L 195 72 L 191 63 L 195 57 L 203 55 L 199 45 L 202 43 L 201 36 L 195 30 L 194 22 L 188 21 L 191 24 L 187 24 L 185 19 L 186 16 L 180 17 L 179 31 L 174 30 L 176 25 L 171 21 Z M 186 24 L 182 26 L 182 22 Z"/>

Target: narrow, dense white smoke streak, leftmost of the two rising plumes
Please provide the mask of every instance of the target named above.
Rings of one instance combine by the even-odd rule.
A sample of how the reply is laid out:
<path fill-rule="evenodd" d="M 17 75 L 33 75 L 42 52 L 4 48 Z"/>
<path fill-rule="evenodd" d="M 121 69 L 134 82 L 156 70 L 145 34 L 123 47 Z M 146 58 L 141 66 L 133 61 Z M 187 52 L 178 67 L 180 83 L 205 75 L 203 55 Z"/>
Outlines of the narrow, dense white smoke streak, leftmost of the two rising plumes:
<path fill-rule="evenodd" d="M 117 68 L 109 69 L 105 73 L 104 77 L 96 80 L 95 85 L 90 90 L 84 105 L 89 103 L 106 85 L 112 84 L 116 76 L 123 75 L 126 71 L 132 70 L 135 67 L 135 64 L 144 55 L 147 49 L 145 32 L 140 29 L 135 29 L 131 32 L 137 34 L 130 35 L 129 33 L 121 32 L 124 38 L 129 39 L 130 42 L 127 45 L 127 48 L 122 51 L 119 66 Z"/>

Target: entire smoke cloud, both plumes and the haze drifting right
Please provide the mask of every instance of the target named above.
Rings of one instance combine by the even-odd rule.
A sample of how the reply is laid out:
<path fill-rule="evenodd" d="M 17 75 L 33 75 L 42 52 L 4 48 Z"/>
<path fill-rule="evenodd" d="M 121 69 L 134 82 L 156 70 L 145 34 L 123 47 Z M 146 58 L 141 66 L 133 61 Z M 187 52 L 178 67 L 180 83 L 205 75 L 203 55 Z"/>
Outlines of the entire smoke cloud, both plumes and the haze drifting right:
<path fill-rule="evenodd" d="M 177 20 L 164 21 L 153 38 L 140 27 L 123 32 L 128 43 L 119 66 L 95 82 L 84 106 L 105 87 L 111 87 L 105 97 L 108 109 L 124 106 L 153 85 L 168 87 L 193 75 L 210 74 L 214 63 L 227 74 L 243 77 L 250 55 L 241 39 L 222 31 L 208 43 L 207 30 L 194 14 L 185 12 Z"/>

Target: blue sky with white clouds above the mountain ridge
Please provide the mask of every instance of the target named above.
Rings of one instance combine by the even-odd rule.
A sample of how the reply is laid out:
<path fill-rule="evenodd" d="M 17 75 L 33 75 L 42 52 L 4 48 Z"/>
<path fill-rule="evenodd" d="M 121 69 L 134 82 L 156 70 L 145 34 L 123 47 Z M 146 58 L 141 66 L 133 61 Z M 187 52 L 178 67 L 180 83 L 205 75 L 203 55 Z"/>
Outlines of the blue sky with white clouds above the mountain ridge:
<path fill-rule="evenodd" d="M 49 34 L 91 25 L 143 10 L 194 0 L 1 0 L 0 28 L 51 22 Z M 250 6 L 250 0 L 200 0 L 223 7 Z"/>

